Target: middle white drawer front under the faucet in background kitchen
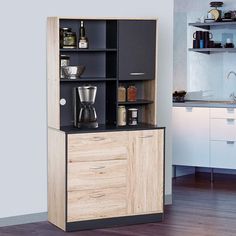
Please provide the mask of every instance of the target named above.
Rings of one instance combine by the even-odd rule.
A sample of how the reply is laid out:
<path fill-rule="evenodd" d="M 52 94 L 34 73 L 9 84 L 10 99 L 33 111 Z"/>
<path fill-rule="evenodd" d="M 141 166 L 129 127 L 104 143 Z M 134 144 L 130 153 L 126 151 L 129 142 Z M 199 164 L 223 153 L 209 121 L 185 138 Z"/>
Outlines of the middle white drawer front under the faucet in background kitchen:
<path fill-rule="evenodd" d="M 236 141 L 235 119 L 211 119 L 211 140 Z"/>

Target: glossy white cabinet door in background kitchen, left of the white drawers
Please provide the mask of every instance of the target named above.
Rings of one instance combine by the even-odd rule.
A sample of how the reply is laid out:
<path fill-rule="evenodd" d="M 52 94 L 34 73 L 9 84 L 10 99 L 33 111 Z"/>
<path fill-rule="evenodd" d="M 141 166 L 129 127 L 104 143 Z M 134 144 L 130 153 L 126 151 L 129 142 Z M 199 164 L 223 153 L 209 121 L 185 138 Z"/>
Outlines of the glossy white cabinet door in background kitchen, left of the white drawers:
<path fill-rule="evenodd" d="M 209 167 L 209 108 L 173 108 L 173 164 Z"/>

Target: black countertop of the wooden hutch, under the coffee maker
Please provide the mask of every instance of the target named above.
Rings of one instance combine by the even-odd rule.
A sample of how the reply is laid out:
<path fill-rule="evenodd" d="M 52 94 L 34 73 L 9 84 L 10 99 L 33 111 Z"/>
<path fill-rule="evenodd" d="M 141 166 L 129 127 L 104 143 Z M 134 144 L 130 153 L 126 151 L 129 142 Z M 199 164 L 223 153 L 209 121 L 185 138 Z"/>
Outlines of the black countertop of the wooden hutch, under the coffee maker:
<path fill-rule="evenodd" d="M 60 130 L 67 134 L 77 133 L 97 133 L 97 132 L 116 132 L 116 131 L 137 131 L 137 130 L 152 130 L 152 129 L 165 129 L 155 125 L 139 123 L 137 126 L 114 126 L 114 125 L 99 125 L 96 129 L 82 129 L 76 128 L 73 125 L 61 126 Z"/>

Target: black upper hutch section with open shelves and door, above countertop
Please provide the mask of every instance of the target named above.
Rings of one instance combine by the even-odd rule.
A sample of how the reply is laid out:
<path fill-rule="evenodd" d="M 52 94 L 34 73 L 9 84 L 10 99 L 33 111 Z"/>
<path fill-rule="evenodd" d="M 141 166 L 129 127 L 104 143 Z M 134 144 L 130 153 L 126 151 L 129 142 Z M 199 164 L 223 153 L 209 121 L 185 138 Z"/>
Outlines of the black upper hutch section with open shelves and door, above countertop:
<path fill-rule="evenodd" d="M 61 18 L 58 31 L 63 27 L 71 28 L 76 33 L 78 40 L 81 20 Z M 57 52 L 59 58 L 61 55 L 69 56 L 71 66 L 85 66 L 85 71 L 80 78 L 61 78 L 59 80 L 60 99 L 66 100 L 65 105 L 59 106 L 60 127 L 71 127 L 73 125 L 72 91 L 74 87 L 82 85 L 97 86 L 94 106 L 99 126 L 116 127 L 117 110 L 120 105 L 127 109 L 138 108 L 140 123 L 156 124 L 155 23 L 147 20 L 137 22 L 113 19 L 85 19 L 83 21 L 89 48 L 58 48 Z M 148 43 L 150 48 L 146 47 L 147 37 L 150 40 Z M 133 43 L 129 44 L 128 42 Z M 143 47 L 144 49 L 139 52 L 137 47 Z M 132 58 L 127 55 L 131 55 Z M 60 70 L 60 67 L 58 70 Z M 136 86 L 136 102 L 118 102 L 118 87 L 120 84 L 124 84 L 126 88 L 130 84 Z"/>

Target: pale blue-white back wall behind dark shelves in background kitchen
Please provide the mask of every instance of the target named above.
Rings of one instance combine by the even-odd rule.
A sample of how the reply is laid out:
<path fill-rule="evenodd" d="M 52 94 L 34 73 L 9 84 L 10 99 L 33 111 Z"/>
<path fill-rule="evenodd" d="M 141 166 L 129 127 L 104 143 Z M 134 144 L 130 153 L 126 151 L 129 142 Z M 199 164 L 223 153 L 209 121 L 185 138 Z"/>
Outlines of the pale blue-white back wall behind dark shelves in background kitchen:
<path fill-rule="evenodd" d="M 188 92 L 199 91 L 197 99 L 229 100 L 229 95 L 236 93 L 236 78 L 226 80 L 230 71 L 236 71 L 235 53 L 212 53 L 210 55 L 188 52 L 192 47 L 192 35 L 195 27 L 189 22 L 207 15 L 209 2 L 205 0 L 175 0 L 174 6 L 174 90 L 185 89 Z M 223 12 L 235 10 L 234 0 L 225 0 Z M 236 45 L 236 27 L 218 27 L 212 29 L 213 40 L 233 39 Z M 193 98 L 193 97 L 192 97 Z"/>

